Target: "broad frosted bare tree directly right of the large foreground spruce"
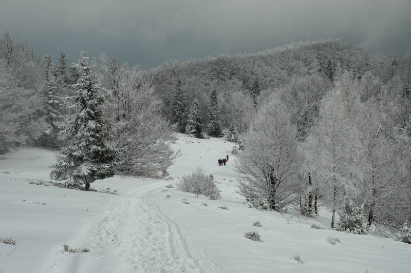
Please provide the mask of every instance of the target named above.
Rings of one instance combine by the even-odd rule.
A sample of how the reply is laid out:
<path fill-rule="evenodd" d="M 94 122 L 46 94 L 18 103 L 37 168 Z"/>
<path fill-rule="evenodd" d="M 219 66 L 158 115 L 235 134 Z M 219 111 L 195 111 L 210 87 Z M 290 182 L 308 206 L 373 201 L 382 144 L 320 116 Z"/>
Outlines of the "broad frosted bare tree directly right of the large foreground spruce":
<path fill-rule="evenodd" d="M 161 115 L 162 101 L 137 68 L 117 67 L 103 55 L 100 73 L 111 93 L 106 107 L 110 140 L 123 153 L 117 170 L 130 175 L 165 175 L 179 155 L 169 141 L 172 131 Z"/>

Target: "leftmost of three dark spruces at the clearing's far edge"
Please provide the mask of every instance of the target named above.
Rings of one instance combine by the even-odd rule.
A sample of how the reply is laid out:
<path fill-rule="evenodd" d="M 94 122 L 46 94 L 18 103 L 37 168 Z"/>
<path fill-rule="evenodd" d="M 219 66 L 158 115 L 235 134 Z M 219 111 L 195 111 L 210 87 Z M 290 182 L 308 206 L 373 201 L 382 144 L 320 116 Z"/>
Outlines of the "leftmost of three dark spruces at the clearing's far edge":
<path fill-rule="evenodd" d="M 177 131 L 180 133 L 185 132 L 185 123 L 186 123 L 186 98 L 183 92 L 181 82 L 176 82 L 176 87 L 174 89 L 173 98 L 172 98 L 172 124 L 177 128 Z"/>

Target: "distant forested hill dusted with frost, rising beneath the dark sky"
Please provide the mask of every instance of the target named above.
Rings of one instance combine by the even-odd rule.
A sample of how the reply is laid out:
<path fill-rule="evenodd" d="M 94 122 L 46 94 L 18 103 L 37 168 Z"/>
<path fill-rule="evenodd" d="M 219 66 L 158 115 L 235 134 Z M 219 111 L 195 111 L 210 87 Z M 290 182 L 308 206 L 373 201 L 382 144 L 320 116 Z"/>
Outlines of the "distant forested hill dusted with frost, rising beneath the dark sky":
<path fill-rule="evenodd" d="M 177 81 L 181 82 L 187 95 L 188 105 L 197 98 L 204 109 L 211 90 L 216 89 L 223 126 L 228 127 L 229 115 L 237 116 L 236 123 L 241 123 L 240 118 L 247 119 L 250 113 L 241 115 L 239 112 L 240 109 L 243 112 L 251 109 L 245 105 L 245 101 L 250 102 L 256 84 L 259 90 L 271 92 L 303 76 L 307 76 L 307 80 L 311 76 L 308 81 L 316 81 L 313 80 L 314 76 L 320 76 L 332 82 L 334 75 L 344 70 L 352 71 L 353 77 L 359 80 L 365 76 L 365 81 L 376 85 L 376 88 L 368 87 L 373 90 L 364 94 L 364 100 L 383 92 L 383 84 L 389 85 L 387 88 L 391 93 L 409 93 L 409 56 L 384 55 L 340 41 L 296 43 L 258 53 L 220 55 L 184 62 L 169 61 L 146 74 L 153 79 L 156 93 L 165 102 L 165 115 L 171 115 L 172 94 Z M 295 92 L 302 87 L 293 87 L 291 84 L 290 88 Z M 208 122 L 206 111 L 203 111 L 202 118 L 203 122 Z M 237 124 L 237 129 L 244 131 L 245 128 Z"/>

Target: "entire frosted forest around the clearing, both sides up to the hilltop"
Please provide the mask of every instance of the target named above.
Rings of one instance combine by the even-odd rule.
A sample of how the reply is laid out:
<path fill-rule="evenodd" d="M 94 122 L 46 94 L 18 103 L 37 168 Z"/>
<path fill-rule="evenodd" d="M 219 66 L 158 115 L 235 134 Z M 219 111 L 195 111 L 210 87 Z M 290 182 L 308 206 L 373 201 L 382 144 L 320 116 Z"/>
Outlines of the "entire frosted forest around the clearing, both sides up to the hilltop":
<path fill-rule="evenodd" d="M 0 38 L 0 154 L 53 150 L 50 179 L 89 189 L 166 177 L 174 132 L 239 147 L 238 192 L 256 207 L 315 217 L 321 203 L 331 228 L 411 243 L 410 56 L 331 40 L 143 70 Z"/>

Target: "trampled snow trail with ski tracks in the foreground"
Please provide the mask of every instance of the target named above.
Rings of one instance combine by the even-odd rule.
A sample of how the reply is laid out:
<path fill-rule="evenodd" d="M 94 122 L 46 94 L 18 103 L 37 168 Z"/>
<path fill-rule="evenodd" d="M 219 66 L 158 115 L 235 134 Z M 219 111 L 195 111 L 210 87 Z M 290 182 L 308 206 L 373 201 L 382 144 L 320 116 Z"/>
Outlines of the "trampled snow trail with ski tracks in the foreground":
<path fill-rule="evenodd" d="M 119 196 L 89 238 L 104 257 L 114 256 L 115 272 L 204 272 L 180 227 L 144 199 L 152 183 Z M 104 257 L 101 260 L 104 261 Z"/>

